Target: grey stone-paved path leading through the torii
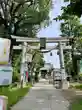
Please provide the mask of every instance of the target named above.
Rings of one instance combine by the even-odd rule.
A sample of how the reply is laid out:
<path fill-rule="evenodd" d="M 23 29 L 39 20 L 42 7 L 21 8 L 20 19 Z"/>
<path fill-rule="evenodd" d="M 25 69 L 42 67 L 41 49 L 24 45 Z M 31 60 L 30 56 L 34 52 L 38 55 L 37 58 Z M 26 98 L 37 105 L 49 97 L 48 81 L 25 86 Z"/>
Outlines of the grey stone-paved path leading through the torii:
<path fill-rule="evenodd" d="M 41 79 L 11 110 L 68 110 L 69 102 L 48 81 Z"/>

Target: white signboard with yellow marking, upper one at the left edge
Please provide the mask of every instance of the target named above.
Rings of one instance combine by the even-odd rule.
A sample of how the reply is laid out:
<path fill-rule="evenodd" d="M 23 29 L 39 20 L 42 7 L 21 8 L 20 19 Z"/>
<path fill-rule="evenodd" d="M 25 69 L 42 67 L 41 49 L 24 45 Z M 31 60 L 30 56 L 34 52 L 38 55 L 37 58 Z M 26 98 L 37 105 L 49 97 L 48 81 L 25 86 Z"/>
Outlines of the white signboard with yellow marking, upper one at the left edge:
<path fill-rule="evenodd" d="M 8 64 L 10 54 L 11 41 L 9 39 L 0 38 L 0 64 Z"/>

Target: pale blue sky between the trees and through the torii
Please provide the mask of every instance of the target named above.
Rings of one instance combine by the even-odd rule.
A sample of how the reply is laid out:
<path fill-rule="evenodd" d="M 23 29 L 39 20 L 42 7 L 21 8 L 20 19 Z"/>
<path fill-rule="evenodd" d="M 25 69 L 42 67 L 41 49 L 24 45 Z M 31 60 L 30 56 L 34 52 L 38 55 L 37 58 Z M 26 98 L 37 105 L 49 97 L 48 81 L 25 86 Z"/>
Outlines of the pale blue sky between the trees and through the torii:
<path fill-rule="evenodd" d="M 41 29 L 37 34 L 38 37 L 60 37 L 60 22 L 54 21 L 53 18 L 62 13 L 61 6 L 64 5 L 66 4 L 64 4 L 63 0 L 53 0 L 53 9 L 49 13 L 52 23 L 47 28 Z M 48 45 L 52 46 L 54 44 Z M 46 63 L 52 63 L 54 68 L 60 68 L 60 61 L 59 56 L 57 55 L 57 50 L 52 51 L 52 56 L 50 56 L 50 53 L 45 53 L 44 60 L 46 61 Z"/>

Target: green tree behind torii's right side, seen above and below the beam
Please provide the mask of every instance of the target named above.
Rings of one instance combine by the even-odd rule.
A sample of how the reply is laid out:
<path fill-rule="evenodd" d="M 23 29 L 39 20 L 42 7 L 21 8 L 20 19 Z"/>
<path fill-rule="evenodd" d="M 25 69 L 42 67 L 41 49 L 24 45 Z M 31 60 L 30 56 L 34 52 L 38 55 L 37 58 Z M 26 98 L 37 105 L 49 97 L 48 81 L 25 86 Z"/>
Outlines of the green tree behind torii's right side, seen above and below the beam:
<path fill-rule="evenodd" d="M 71 51 L 72 59 L 70 57 L 70 52 L 64 51 L 65 69 L 74 76 L 77 74 L 77 58 L 80 59 L 80 56 L 75 56 L 74 52 L 76 51 L 78 53 L 79 49 L 81 50 L 82 48 L 82 41 L 80 39 L 80 37 L 82 37 L 82 25 L 77 15 L 67 12 L 68 6 L 62 7 L 61 9 L 63 11 L 62 14 L 54 18 L 54 20 L 62 21 L 60 24 L 62 37 L 74 37 L 74 43 L 71 43 L 73 47 Z"/>

